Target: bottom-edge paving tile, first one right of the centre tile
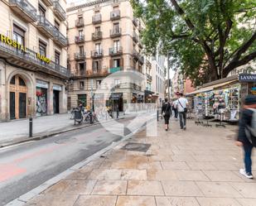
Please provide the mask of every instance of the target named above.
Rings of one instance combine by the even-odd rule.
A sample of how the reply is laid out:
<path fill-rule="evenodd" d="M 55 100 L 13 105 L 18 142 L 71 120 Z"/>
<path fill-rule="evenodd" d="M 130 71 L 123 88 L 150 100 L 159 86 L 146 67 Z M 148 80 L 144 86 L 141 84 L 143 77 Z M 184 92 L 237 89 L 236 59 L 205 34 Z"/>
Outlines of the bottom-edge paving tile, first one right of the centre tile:
<path fill-rule="evenodd" d="M 195 198 L 156 197 L 157 206 L 199 206 Z"/>

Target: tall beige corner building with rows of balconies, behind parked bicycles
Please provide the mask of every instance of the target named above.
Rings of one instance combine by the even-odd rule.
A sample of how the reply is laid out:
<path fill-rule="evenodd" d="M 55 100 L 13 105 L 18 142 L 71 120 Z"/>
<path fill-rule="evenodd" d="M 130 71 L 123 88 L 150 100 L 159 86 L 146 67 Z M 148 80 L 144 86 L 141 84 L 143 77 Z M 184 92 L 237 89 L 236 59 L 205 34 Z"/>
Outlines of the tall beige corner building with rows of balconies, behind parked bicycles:
<path fill-rule="evenodd" d="M 73 86 L 68 105 L 90 105 L 94 92 L 109 74 L 120 70 L 142 73 L 142 22 L 133 17 L 128 0 L 98 0 L 67 8 L 69 59 Z M 144 99 L 141 86 L 114 79 L 114 108 Z M 110 99 L 109 99 L 110 100 Z M 107 103 L 108 104 L 108 103 Z"/>

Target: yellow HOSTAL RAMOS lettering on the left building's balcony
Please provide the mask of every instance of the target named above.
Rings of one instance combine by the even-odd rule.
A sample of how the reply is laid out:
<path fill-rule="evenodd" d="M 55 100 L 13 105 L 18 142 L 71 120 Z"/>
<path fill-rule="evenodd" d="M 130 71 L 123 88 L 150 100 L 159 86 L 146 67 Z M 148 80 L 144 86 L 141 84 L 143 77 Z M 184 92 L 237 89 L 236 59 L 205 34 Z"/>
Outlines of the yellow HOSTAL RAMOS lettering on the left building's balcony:
<path fill-rule="evenodd" d="M 27 52 L 26 46 L 22 46 L 22 44 L 18 43 L 15 40 L 12 40 L 8 36 L 4 36 L 4 35 L 0 34 L 0 41 L 2 41 L 3 43 L 5 43 L 9 46 L 12 46 L 13 48 L 16 48 L 17 50 L 22 50 L 24 53 L 29 53 L 29 52 Z M 40 53 L 36 53 L 36 58 L 38 60 L 44 61 L 46 64 L 51 63 L 51 60 L 49 58 L 46 58 L 46 56 L 41 55 Z"/>

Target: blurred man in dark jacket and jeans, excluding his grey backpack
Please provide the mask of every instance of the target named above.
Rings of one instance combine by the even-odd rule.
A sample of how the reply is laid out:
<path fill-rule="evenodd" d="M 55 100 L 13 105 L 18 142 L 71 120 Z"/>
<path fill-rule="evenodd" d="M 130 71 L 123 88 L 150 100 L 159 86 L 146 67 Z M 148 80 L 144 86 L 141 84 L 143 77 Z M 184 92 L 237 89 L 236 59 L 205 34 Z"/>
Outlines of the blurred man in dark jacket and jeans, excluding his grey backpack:
<path fill-rule="evenodd" d="M 252 174 L 252 160 L 251 160 L 252 150 L 254 146 L 247 137 L 247 135 L 249 134 L 246 132 L 246 129 L 247 129 L 246 127 L 251 126 L 253 113 L 254 113 L 252 109 L 255 109 L 255 108 L 256 108 L 256 96 L 248 95 L 244 101 L 244 110 L 241 114 L 241 118 L 239 121 L 239 136 L 236 141 L 237 146 L 244 147 L 245 169 L 240 169 L 239 172 L 241 175 L 244 175 L 249 179 L 254 178 Z"/>

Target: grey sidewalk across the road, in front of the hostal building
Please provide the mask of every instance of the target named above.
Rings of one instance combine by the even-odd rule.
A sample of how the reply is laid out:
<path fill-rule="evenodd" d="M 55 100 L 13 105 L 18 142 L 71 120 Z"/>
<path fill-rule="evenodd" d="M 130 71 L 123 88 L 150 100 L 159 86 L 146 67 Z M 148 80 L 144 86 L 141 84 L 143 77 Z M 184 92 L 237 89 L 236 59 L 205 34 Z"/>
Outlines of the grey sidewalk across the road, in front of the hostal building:
<path fill-rule="evenodd" d="M 120 114 L 123 117 L 123 114 Z M 74 125 L 70 113 L 56 114 L 45 117 L 33 118 L 33 137 L 48 136 L 55 132 L 64 132 L 72 128 L 86 127 L 88 123 Z M 0 146 L 13 141 L 22 141 L 29 137 L 29 120 L 15 120 L 0 122 Z"/>

